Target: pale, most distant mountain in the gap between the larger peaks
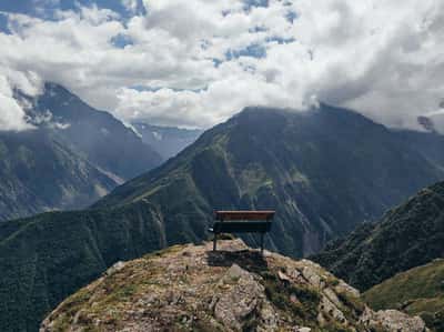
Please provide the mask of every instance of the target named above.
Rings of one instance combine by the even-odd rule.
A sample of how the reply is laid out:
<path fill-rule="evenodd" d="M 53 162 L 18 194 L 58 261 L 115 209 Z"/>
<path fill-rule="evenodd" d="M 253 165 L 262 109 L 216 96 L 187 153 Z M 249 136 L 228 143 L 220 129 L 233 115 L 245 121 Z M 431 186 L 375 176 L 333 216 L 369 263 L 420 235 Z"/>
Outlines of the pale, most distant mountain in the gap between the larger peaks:
<path fill-rule="evenodd" d="M 143 142 L 152 147 L 164 160 L 178 154 L 203 132 L 196 129 L 160 127 L 144 122 L 134 122 L 132 125 L 141 134 Z"/>

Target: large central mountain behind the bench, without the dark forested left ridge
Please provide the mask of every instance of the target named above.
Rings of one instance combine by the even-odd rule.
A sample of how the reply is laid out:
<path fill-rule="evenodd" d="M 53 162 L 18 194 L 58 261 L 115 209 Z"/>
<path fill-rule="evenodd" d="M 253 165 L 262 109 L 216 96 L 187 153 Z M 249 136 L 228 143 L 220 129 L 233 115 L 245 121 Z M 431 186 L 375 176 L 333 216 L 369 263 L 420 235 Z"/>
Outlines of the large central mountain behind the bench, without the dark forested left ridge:
<path fill-rule="evenodd" d="M 357 113 L 250 108 L 94 208 L 149 201 L 168 237 L 184 240 L 201 238 L 213 209 L 275 209 L 269 245 L 301 255 L 440 179 L 442 168 Z"/>

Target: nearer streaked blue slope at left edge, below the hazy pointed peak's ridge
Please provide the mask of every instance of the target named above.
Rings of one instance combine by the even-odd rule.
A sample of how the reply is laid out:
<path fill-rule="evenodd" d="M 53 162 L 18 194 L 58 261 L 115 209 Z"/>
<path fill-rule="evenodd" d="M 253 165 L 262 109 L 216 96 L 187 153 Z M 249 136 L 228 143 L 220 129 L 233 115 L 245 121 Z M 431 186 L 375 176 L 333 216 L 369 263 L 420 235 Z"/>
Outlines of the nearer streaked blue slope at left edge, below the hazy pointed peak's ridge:
<path fill-rule="evenodd" d="M 43 130 L 0 132 L 0 221 L 85 207 L 117 184 Z"/>

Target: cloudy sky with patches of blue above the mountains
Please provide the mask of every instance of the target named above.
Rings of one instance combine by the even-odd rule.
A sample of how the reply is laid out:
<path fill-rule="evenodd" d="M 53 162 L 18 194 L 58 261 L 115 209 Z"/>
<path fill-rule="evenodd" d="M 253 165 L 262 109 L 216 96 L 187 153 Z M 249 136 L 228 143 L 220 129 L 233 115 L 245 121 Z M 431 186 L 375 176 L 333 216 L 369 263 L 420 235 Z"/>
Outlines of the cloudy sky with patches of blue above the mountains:
<path fill-rule="evenodd" d="M 444 98 L 442 0 L 0 0 L 0 130 L 60 83 L 125 122 L 206 129 L 316 101 L 417 128 Z"/>

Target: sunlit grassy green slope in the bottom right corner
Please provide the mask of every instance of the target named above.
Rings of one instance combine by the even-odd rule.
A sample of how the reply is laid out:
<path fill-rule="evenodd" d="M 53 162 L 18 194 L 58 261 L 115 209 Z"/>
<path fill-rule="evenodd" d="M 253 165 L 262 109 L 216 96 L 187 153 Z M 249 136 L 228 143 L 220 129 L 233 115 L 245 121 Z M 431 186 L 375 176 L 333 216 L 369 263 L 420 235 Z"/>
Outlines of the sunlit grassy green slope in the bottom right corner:
<path fill-rule="evenodd" d="M 421 265 L 371 288 L 365 301 L 375 310 L 397 309 L 421 315 L 427 326 L 444 331 L 444 259 Z"/>

